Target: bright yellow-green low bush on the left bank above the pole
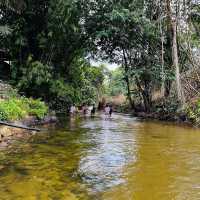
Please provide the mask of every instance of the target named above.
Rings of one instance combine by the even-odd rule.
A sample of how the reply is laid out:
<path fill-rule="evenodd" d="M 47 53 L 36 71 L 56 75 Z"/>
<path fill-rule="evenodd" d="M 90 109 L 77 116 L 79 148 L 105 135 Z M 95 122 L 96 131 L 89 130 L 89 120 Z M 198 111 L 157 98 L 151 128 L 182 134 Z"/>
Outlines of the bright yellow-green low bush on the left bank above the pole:
<path fill-rule="evenodd" d="M 11 98 L 0 102 L 0 120 L 19 120 L 28 115 L 42 119 L 48 112 L 44 102 L 28 98 Z"/>

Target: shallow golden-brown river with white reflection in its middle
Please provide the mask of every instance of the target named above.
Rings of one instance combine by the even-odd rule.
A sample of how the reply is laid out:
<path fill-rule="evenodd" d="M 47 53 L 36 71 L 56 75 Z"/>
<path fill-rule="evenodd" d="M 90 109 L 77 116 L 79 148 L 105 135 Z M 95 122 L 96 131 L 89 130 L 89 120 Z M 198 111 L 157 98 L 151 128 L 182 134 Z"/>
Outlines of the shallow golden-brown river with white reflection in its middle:
<path fill-rule="evenodd" d="M 200 130 L 128 115 L 63 118 L 0 153 L 0 200 L 197 200 Z"/>

